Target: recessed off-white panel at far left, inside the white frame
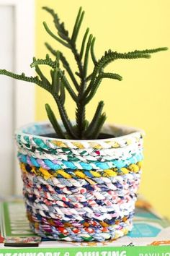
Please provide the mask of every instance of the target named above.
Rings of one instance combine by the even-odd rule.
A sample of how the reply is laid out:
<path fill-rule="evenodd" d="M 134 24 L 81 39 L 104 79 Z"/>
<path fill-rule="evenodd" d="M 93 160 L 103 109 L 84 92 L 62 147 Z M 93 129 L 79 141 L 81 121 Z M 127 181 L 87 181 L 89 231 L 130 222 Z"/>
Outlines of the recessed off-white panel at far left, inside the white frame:
<path fill-rule="evenodd" d="M 0 68 L 14 70 L 14 7 L 0 5 Z M 12 193 L 14 82 L 0 77 L 0 193 Z"/>

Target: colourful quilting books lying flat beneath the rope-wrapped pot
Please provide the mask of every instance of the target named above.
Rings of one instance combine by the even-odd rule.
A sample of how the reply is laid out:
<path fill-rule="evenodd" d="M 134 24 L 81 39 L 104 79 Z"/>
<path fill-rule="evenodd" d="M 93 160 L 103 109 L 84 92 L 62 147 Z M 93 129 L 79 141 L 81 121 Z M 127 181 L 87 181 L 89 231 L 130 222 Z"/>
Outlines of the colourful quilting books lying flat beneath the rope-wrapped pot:
<path fill-rule="evenodd" d="M 0 256 L 170 256 L 170 222 L 138 200 L 133 230 L 106 242 L 41 239 L 30 230 L 22 200 L 1 202 Z"/>

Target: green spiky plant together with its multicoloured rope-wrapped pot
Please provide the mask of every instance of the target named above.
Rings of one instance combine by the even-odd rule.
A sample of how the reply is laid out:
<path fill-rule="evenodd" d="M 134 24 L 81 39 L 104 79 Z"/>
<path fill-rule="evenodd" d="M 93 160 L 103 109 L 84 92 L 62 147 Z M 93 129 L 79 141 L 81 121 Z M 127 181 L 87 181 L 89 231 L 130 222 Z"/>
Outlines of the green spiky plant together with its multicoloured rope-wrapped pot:
<path fill-rule="evenodd" d="M 73 72 L 61 51 L 48 43 L 54 59 L 33 59 L 36 77 L 0 74 L 35 83 L 53 95 L 61 121 L 45 105 L 50 122 L 35 123 L 16 132 L 18 158 L 24 182 L 23 194 L 30 226 L 40 236 L 66 241 L 116 239 L 132 229 L 136 193 L 143 160 L 143 132 L 140 129 L 104 124 L 104 102 L 100 101 L 93 119 L 86 119 L 86 105 L 97 93 L 103 79 L 122 80 L 120 74 L 104 72 L 117 59 L 148 59 L 165 51 L 156 48 L 120 54 L 105 51 L 94 54 L 93 35 L 86 29 L 81 48 L 76 42 L 84 11 L 80 8 L 71 36 L 53 9 L 44 7 L 55 24 L 57 34 L 44 22 L 45 30 L 58 43 L 70 49 L 76 60 Z M 89 57 L 94 64 L 88 69 Z M 50 67 L 51 80 L 40 65 Z M 71 121 L 65 108 L 65 92 L 76 103 L 76 118 Z"/>

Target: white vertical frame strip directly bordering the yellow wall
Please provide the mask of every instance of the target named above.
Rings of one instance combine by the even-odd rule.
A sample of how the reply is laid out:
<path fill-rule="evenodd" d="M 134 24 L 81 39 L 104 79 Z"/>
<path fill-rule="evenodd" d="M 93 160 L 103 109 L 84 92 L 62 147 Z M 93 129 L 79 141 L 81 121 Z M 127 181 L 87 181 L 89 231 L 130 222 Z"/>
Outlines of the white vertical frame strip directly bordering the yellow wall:
<path fill-rule="evenodd" d="M 0 0 L 0 6 L 14 7 L 14 72 L 34 74 L 30 63 L 35 52 L 35 1 L 34 0 Z M 14 80 L 14 129 L 35 120 L 35 86 L 33 84 Z M 15 154 L 16 158 L 16 154 Z M 14 161 L 16 163 L 16 161 Z M 22 182 L 14 164 L 14 189 L 21 192 Z"/>

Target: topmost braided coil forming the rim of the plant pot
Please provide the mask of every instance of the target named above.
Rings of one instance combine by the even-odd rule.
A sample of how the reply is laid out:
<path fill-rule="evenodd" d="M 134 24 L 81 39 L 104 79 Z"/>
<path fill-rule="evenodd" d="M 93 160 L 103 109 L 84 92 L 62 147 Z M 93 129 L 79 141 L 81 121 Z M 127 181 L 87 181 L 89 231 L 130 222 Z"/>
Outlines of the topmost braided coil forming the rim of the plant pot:
<path fill-rule="evenodd" d="M 53 133 L 53 128 L 49 123 L 35 123 L 19 129 L 15 138 L 17 145 L 27 145 L 31 148 L 42 148 L 43 150 L 68 148 L 68 149 L 109 149 L 125 148 L 128 145 L 135 145 L 143 138 L 143 131 L 129 128 L 112 126 L 111 124 L 104 127 L 109 134 L 118 137 L 102 140 L 60 140 L 49 137 L 42 137 L 42 134 Z"/>

